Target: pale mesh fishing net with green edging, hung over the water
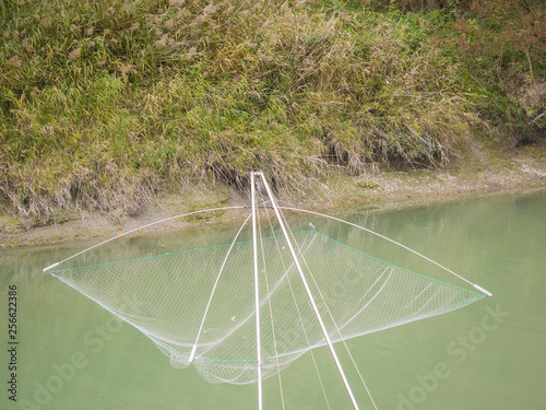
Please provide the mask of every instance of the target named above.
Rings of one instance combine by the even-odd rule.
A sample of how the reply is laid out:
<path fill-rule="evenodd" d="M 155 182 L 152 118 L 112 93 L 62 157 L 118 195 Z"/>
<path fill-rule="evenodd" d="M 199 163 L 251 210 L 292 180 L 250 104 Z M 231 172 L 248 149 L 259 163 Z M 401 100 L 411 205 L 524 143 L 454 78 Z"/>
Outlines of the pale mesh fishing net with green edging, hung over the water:
<path fill-rule="evenodd" d="M 314 230 L 290 234 L 290 239 L 333 342 L 485 297 L 397 268 Z M 324 337 L 286 237 L 260 239 L 258 247 L 265 378 L 323 345 Z M 212 383 L 247 384 L 258 377 L 252 260 L 252 242 L 240 242 L 50 273 L 141 330 L 173 366 L 193 364 Z"/>

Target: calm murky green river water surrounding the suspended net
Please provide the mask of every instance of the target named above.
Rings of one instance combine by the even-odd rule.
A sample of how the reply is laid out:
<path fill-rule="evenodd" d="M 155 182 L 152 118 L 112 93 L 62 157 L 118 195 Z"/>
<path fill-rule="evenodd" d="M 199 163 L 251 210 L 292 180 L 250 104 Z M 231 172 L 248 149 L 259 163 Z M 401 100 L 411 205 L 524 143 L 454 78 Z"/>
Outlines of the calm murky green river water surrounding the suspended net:
<path fill-rule="evenodd" d="M 494 293 L 447 315 L 348 341 L 379 409 L 545 409 L 546 192 L 472 199 L 344 218 L 426 254 Z M 313 223 L 317 223 L 313 221 Z M 336 226 L 336 225 L 335 225 Z M 325 227 L 329 227 L 328 225 Z M 237 226 L 143 236 L 100 249 L 123 257 L 229 243 Z M 345 242 L 351 231 L 334 229 Z M 407 253 L 366 239 L 370 253 L 415 271 Z M 92 243 L 93 244 L 93 243 Z M 256 409 L 256 385 L 204 382 L 174 370 L 153 343 L 41 269 L 87 244 L 0 251 L 1 409 Z M 455 282 L 456 283 L 456 282 Z M 8 292 L 16 285 L 16 398 L 9 400 Z M 324 349 L 316 360 L 331 409 L 348 409 Z M 361 409 L 372 408 L 341 353 Z M 287 409 L 328 408 L 309 354 L 281 373 Z M 278 379 L 264 382 L 264 408 L 281 409 Z"/>

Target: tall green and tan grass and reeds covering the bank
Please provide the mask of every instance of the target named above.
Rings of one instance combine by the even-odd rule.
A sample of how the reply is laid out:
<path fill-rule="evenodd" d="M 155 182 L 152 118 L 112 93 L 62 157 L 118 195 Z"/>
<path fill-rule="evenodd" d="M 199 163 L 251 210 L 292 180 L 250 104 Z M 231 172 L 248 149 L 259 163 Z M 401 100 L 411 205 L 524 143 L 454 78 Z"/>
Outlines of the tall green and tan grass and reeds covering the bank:
<path fill-rule="evenodd" d="M 122 216 L 256 168 L 290 189 L 541 138 L 544 8 L 410 3 L 4 1 L 0 202 Z"/>

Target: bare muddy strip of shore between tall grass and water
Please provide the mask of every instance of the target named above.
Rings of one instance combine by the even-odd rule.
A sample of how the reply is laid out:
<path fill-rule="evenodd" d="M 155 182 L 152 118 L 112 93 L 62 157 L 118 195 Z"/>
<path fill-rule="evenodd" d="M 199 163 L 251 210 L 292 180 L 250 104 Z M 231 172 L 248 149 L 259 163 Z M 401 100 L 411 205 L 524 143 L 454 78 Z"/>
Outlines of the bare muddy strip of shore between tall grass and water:
<path fill-rule="evenodd" d="M 284 192 L 284 199 L 307 209 L 339 213 L 340 209 L 348 207 L 401 208 L 546 188 L 545 147 L 532 145 L 500 155 L 487 155 L 486 150 L 476 145 L 471 151 L 471 155 L 444 169 L 379 171 L 353 177 L 332 174 L 328 180 L 309 178 L 299 185 L 300 189 Z M 183 195 L 165 194 L 122 219 L 80 210 L 67 212 L 47 226 L 25 229 L 20 220 L 0 214 L 0 248 L 111 237 L 186 212 L 248 203 L 245 192 L 216 184 Z M 225 223 L 241 214 L 239 210 L 213 212 L 185 219 L 181 223 L 180 220 L 159 223 L 152 230 L 199 229 L 203 224 Z"/>

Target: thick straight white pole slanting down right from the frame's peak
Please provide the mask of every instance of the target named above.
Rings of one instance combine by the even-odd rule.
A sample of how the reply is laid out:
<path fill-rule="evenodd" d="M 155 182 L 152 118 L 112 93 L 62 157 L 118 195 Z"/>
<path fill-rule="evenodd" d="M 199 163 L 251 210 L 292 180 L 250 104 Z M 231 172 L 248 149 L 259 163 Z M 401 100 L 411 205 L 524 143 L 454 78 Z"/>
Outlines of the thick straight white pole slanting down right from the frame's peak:
<path fill-rule="evenodd" d="M 324 339 L 327 340 L 327 344 L 330 349 L 330 352 L 332 353 L 332 356 L 334 358 L 335 365 L 337 366 L 337 371 L 340 372 L 340 375 L 343 379 L 343 384 L 345 385 L 345 388 L 347 389 L 351 401 L 353 402 L 353 407 L 355 408 L 355 410 L 358 410 L 358 403 L 356 402 L 355 396 L 353 395 L 353 390 L 351 389 L 347 377 L 345 377 L 345 373 L 343 372 L 340 360 L 337 359 L 337 354 L 335 353 L 335 349 L 334 349 L 334 345 L 332 344 L 332 340 L 330 339 L 330 336 L 328 335 L 327 327 L 324 326 L 324 323 L 322 321 L 322 317 L 321 317 L 319 309 L 317 307 L 317 303 L 314 302 L 314 297 L 312 296 L 311 290 L 309 289 L 309 284 L 307 283 L 307 280 L 304 276 L 304 271 L 301 270 L 301 266 L 299 265 L 298 258 L 296 256 L 296 251 L 294 250 L 294 247 L 292 246 L 292 241 L 288 237 L 288 233 L 286 232 L 286 227 L 284 226 L 284 222 L 283 222 L 283 219 L 281 216 L 281 212 L 278 211 L 278 208 L 276 206 L 276 201 L 273 198 L 273 194 L 271 192 L 270 186 L 269 186 L 268 181 L 265 180 L 263 173 L 257 173 L 257 174 L 261 175 L 262 180 L 263 180 L 263 185 L 265 186 L 265 189 L 268 190 L 268 196 L 270 197 L 271 204 L 273 207 L 273 210 L 275 211 L 275 215 L 278 220 L 278 223 L 281 224 L 281 230 L 283 231 L 284 237 L 286 238 L 286 243 L 288 245 L 288 249 L 290 250 L 292 257 L 294 258 L 294 263 L 296 265 L 296 268 L 299 272 L 299 277 L 301 278 L 301 282 L 304 282 L 304 286 L 306 289 L 307 296 L 309 297 L 309 301 L 311 302 L 312 309 L 314 311 L 314 315 L 317 316 L 317 320 L 319 321 L 322 333 L 324 335 Z"/>

